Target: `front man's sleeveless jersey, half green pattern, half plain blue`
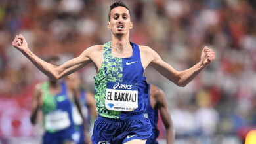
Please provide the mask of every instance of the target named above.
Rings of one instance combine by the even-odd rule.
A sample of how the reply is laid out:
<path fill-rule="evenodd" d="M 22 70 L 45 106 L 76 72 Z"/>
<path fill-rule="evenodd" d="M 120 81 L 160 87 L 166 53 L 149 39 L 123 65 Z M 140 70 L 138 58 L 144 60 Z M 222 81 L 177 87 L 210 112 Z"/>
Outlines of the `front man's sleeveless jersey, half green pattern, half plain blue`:
<path fill-rule="evenodd" d="M 133 47 L 131 57 L 117 58 L 112 56 L 111 42 L 104 43 L 102 67 L 100 67 L 98 75 L 94 77 L 96 109 L 101 117 L 121 119 L 131 115 L 143 115 L 146 110 L 145 99 L 148 98 L 148 84 L 146 83 L 146 77 L 143 76 L 144 68 L 140 60 L 139 46 L 135 43 L 131 43 L 131 45 Z M 115 96 L 109 95 L 110 99 L 117 100 L 117 104 L 119 101 L 127 103 L 136 101 L 137 108 L 126 108 L 131 111 L 111 110 L 110 108 L 116 106 L 113 103 L 105 105 L 108 99 L 106 97 L 107 87 L 111 90 L 123 90 L 124 93 L 112 93 Z M 125 92 L 129 89 L 133 89 L 133 92 L 137 93 L 133 95 L 133 92 L 129 92 L 125 95 Z M 129 107 L 129 105 L 125 106 Z M 119 109 L 119 107 L 116 107 L 116 109 Z M 120 107 L 120 109 L 125 108 Z"/>

